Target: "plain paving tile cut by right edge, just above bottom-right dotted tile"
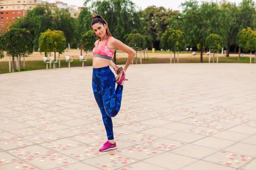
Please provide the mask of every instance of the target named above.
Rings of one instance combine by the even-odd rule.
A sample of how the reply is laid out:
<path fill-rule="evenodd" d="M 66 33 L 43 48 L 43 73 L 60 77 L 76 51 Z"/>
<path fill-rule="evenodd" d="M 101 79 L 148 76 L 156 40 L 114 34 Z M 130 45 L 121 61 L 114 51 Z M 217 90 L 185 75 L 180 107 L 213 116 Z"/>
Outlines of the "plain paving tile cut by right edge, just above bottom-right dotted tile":
<path fill-rule="evenodd" d="M 239 142 L 225 148 L 224 150 L 256 157 L 256 145 L 253 144 L 245 144 Z"/>

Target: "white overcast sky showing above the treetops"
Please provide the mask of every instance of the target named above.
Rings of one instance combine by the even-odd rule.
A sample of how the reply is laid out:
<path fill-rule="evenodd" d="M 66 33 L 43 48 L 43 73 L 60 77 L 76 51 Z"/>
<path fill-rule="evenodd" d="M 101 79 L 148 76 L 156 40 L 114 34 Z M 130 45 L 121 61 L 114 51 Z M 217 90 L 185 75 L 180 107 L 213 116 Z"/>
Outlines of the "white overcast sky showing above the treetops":
<path fill-rule="evenodd" d="M 53 0 L 48 0 L 49 2 Z M 60 0 L 68 5 L 76 5 L 76 6 L 83 6 L 84 0 Z M 201 0 L 199 0 L 201 2 Z M 212 0 L 207 0 L 212 1 Z M 216 0 L 213 0 L 216 1 Z M 220 1 L 220 0 L 218 0 Z M 236 4 L 241 3 L 242 0 L 228 0 L 230 2 L 235 2 Z M 165 8 L 171 8 L 174 10 L 179 10 L 179 6 L 181 3 L 185 2 L 185 0 L 132 0 L 137 6 L 145 9 L 148 6 L 155 5 L 155 6 L 164 6 Z"/>

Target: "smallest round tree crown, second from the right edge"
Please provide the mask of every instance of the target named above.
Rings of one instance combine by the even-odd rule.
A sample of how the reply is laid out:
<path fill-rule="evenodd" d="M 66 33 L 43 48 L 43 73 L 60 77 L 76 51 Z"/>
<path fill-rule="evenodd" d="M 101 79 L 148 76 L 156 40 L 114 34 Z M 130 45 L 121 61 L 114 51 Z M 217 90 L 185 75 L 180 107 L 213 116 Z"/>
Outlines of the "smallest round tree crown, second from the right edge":
<path fill-rule="evenodd" d="M 205 44 L 206 44 L 207 48 L 211 49 L 211 51 L 213 51 L 213 52 L 220 51 L 222 39 L 217 34 L 210 34 L 206 38 Z"/>

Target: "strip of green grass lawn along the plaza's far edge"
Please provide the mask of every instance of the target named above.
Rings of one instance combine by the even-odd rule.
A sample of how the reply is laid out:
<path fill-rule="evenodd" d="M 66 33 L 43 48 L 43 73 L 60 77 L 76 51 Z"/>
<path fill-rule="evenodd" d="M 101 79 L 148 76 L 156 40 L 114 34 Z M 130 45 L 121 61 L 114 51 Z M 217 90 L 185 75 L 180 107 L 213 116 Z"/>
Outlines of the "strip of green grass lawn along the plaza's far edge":
<path fill-rule="evenodd" d="M 117 65 L 123 65 L 125 64 L 127 58 L 119 58 L 116 59 Z M 215 57 L 215 62 L 217 58 Z M 174 59 L 172 58 L 172 62 Z M 208 57 L 204 57 L 203 59 L 204 63 L 208 62 Z M 176 58 L 177 62 L 177 58 Z M 193 57 L 193 58 L 179 58 L 180 63 L 199 63 L 200 57 Z M 212 62 L 212 58 L 211 58 Z M 249 57 L 241 58 L 240 60 L 237 60 L 237 58 L 229 58 L 229 57 L 220 57 L 219 63 L 250 63 Z M 148 58 L 145 60 L 142 60 L 143 64 L 153 64 L 153 63 L 170 63 L 170 58 Z M 254 58 L 252 59 L 252 63 L 254 63 Z M 43 61 L 26 61 L 25 63 L 25 70 L 23 70 L 23 61 L 21 62 L 21 71 L 31 71 L 31 70 L 41 70 L 46 69 L 46 64 Z M 134 64 L 135 64 L 135 58 L 134 58 Z M 138 57 L 138 64 L 140 64 L 140 57 Z M 79 59 L 74 59 L 73 62 L 70 63 L 70 67 L 81 67 L 82 62 L 79 61 Z M 84 66 L 92 66 L 92 59 L 87 59 L 87 62 L 84 62 Z M 68 67 L 68 62 L 65 60 L 61 60 L 61 68 Z M 16 63 L 15 63 L 16 68 Z M 53 68 L 53 65 L 52 65 Z M 58 63 L 57 63 L 58 68 Z M 49 69 L 49 65 L 48 65 Z M 9 73 L 9 62 L 0 62 L 0 74 Z"/>

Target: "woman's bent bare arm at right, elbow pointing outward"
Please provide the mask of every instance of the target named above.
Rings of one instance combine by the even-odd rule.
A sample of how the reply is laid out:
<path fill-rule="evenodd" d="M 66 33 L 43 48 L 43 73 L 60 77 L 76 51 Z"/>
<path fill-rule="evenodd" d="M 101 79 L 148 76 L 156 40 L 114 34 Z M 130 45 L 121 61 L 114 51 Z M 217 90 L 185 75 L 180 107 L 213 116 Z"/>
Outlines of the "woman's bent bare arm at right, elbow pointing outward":
<path fill-rule="evenodd" d="M 125 67 L 124 67 L 124 70 L 126 71 L 127 68 L 129 67 L 129 65 L 131 64 L 132 60 L 134 59 L 134 56 L 136 55 L 136 52 L 134 51 L 134 49 L 132 49 L 128 45 L 125 45 L 124 43 L 122 43 L 121 41 L 116 40 L 116 39 L 113 40 L 112 45 L 116 49 L 124 51 L 125 53 L 128 54 L 128 59 L 127 59 L 127 62 L 125 64 Z"/>

